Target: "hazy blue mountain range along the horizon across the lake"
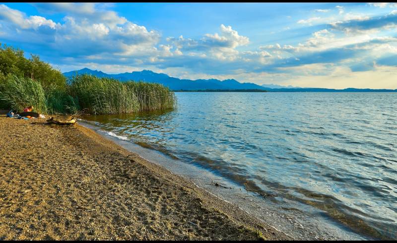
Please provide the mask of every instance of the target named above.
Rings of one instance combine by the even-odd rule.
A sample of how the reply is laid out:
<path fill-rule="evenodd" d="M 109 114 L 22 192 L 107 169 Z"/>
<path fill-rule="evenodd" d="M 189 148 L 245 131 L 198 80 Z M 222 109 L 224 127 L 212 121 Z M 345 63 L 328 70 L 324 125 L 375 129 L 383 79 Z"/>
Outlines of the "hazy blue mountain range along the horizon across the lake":
<path fill-rule="evenodd" d="M 255 90 L 256 91 L 263 90 L 263 91 L 272 91 L 272 92 L 397 92 L 397 89 L 393 90 L 393 89 L 356 89 L 356 88 L 347 88 L 347 89 L 300 88 L 300 87 L 293 87 L 291 85 L 281 86 L 276 84 L 263 84 L 261 86 L 255 83 L 240 83 L 235 79 L 190 80 L 190 79 L 179 79 L 175 77 L 170 77 L 165 73 L 156 73 L 150 70 L 125 72 L 119 74 L 108 74 L 98 70 L 83 68 L 76 71 L 64 72 L 64 75 L 66 77 L 71 77 L 76 74 L 91 74 L 97 77 L 115 78 L 120 81 L 141 80 L 145 82 L 160 83 L 175 91 L 238 90 L 241 92 L 243 90 L 247 90 L 253 92 Z"/>

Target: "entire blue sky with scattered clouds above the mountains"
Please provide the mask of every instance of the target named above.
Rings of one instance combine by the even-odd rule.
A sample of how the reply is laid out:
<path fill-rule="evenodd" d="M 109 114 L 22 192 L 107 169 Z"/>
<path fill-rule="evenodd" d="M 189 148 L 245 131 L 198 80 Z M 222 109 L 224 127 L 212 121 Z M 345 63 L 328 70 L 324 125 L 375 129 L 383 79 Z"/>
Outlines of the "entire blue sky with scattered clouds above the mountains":
<path fill-rule="evenodd" d="M 0 3 L 0 43 L 62 72 L 397 89 L 397 3 Z"/>

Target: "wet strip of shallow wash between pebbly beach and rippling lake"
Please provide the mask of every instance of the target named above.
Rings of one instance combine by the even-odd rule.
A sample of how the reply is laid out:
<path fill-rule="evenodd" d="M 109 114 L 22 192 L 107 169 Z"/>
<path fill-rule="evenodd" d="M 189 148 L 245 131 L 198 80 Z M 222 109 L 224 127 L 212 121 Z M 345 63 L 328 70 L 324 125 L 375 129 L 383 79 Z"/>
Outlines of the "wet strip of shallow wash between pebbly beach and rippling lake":
<path fill-rule="evenodd" d="M 238 205 L 240 210 L 253 215 L 271 227 L 283 232 L 294 240 L 368 240 L 362 235 L 344 228 L 337 222 L 327 218 L 315 218 L 306 205 L 298 205 L 283 197 L 277 199 L 263 198 L 257 192 L 247 190 L 244 186 L 218 175 L 198 165 L 183 161 L 162 149 L 129 139 L 122 133 L 104 129 L 95 120 L 78 120 L 100 136 L 112 140 L 119 146 L 137 154 L 149 163 L 166 168 L 199 188 L 211 193 L 228 203 Z M 219 182 L 219 183 L 218 183 Z M 218 184 L 216 186 L 215 184 Z"/>

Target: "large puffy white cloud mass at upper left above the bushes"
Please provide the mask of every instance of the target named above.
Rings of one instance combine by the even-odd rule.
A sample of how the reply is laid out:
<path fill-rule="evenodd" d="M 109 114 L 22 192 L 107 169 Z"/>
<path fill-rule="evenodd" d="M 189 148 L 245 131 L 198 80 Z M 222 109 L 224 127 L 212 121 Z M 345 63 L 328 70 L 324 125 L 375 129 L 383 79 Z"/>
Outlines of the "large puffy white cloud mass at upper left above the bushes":
<path fill-rule="evenodd" d="M 13 40 L 43 40 L 58 55 L 88 56 L 112 53 L 117 55 L 147 55 L 158 51 L 154 46 L 160 34 L 148 31 L 144 26 L 128 21 L 117 13 L 98 10 L 93 3 L 42 3 L 53 11 L 70 11 L 63 23 L 55 23 L 42 16 L 26 16 L 25 13 L 0 5 L 0 23 Z M 88 17 L 87 17 L 88 16 Z M 43 27 L 47 27 L 43 28 Z M 49 31 L 48 28 L 52 29 Z M 38 35 L 46 38 L 40 38 Z M 159 51 L 161 53 L 161 50 Z"/>

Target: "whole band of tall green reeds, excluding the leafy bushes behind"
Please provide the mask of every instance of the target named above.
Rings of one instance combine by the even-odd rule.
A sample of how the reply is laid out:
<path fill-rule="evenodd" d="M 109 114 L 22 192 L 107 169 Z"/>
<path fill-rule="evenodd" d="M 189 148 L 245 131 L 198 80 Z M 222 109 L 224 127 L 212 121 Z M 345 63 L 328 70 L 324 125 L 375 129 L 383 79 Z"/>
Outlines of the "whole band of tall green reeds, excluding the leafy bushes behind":
<path fill-rule="evenodd" d="M 167 110 L 176 106 L 174 92 L 155 83 L 120 82 L 111 78 L 78 75 L 65 87 L 42 86 L 40 80 L 8 75 L 0 82 L 0 101 L 6 107 L 23 111 L 34 106 L 42 114 L 131 114 Z"/>

